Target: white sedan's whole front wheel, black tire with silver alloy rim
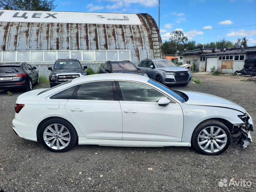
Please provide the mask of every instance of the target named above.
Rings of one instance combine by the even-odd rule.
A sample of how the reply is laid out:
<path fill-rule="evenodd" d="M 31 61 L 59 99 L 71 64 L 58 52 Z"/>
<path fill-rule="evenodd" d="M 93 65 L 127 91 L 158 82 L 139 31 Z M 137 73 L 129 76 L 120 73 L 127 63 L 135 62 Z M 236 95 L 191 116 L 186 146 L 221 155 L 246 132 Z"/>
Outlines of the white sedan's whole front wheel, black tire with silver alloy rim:
<path fill-rule="evenodd" d="M 212 127 L 213 133 L 211 134 Z M 204 130 L 206 130 L 206 132 L 204 132 Z M 217 133 L 217 131 L 219 132 Z M 206 133 L 208 133 L 208 135 Z M 216 133 L 217 135 L 215 135 Z M 224 136 L 224 134 L 226 136 Z M 208 120 L 199 124 L 191 138 L 191 144 L 194 149 L 204 155 L 221 154 L 228 149 L 230 142 L 231 134 L 229 129 L 222 122 L 217 120 Z M 216 144 L 219 148 L 217 148 Z"/>

